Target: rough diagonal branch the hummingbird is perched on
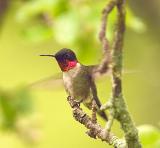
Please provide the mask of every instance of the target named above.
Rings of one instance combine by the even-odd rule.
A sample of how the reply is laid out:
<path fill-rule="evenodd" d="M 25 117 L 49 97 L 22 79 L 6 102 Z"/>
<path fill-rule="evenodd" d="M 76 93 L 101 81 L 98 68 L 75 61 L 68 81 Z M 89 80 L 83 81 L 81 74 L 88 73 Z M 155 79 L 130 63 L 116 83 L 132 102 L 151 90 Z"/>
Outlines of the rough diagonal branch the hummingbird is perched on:
<path fill-rule="evenodd" d="M 67 100 L 73 109 L 73 117 L 76 119 L 76 121 L 83 124 L 87 129 L 92 130 L 94 135 L 96 135 L 102 141 L 105 141 L 117 148 L 126 147 L 125 140 L 117 138 L 112 133 L 107 133 L 107 135 L 105 135 L 105 129 L 103 129 L 98 123 L 93 123 L 91 118 L 82 111 L 79 103 L 77 103 L 74 98 L 69 96 Z"/>

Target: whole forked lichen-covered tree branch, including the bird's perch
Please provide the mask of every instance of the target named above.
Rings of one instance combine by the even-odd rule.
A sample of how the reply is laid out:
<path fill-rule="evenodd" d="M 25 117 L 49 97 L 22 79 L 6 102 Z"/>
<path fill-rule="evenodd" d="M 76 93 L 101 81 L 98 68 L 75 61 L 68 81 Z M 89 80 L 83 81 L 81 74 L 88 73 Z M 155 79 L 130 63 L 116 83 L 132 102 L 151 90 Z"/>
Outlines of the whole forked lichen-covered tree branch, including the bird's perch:
<path fill-rule="evenodd" d="M 113 8 L 117 8 L 117 23 L 112 46 L 107 37 L 107 18 Z M 86 128 L 92 130 L 99 139 L 106 141 L 116 148 L 141 148 L 138 131 L 131 119 L 122 94 L 122 53 L 123 39 L 125 31 L 125 0 L 110 0 L 102 12 L 102 24 L 99 39 L 103 45 L 103 59 L 94 74 L 103 74 L 109 69 L 112 70 L 112 98 L 101 109 L 110 110 L 110 118 L 106 128 L 102 128 L 98 123 L 93 123 L 91 118 L 82 111 L 74 98 L 68 97 L 68 102 L 73 109 L 74 118 Z M 111 54 L 112 51 L 112 54 Z M 111 65 L 111 67 L 110 67 Z M 93 75 L 94 75 L 93 74 Z M 113 120 L 120 122 L 125 134 L 125 140 L 117 138 L 110 132 Z"/>

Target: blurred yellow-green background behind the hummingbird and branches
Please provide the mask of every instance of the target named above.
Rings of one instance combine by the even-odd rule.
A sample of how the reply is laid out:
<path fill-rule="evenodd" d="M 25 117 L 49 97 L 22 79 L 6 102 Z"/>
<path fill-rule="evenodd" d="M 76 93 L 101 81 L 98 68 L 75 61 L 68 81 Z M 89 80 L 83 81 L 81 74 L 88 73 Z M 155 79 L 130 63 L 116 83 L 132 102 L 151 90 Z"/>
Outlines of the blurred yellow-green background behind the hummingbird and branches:
<path fill-rule="evenodd" d="M 105 5 L 104 0 L 0 0 L 1 148 L 110 147 L 89 138 L 73 119 L 60 82 L 30 88 L 60 72 L 54 60 L 40 54 L 67 47 L 83 64 L 100 61 L 98 32 Z M 129 0 L 126 7 L 123 93 L 145 148 L 160 147 L 159 8 L 156 0 Z M 110 40 L 115 20 L 116 10 L 109 17 Z M 97 86 L 105 103 L 110 77 L 100 78 Z M 123 136 L 117 122 L 113 131 Z"/>

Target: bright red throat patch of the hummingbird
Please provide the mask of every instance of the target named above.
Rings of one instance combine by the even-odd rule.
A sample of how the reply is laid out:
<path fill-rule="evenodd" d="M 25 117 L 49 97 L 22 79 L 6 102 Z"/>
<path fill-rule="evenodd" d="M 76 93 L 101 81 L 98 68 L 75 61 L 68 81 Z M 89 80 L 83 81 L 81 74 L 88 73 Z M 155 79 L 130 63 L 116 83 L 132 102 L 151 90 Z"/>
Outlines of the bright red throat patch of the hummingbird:
<path fill-rule="evenodd" d="M 77 61 L 69 61 L 67 60 L 65 64 L 59 63 L 59 66 L 62 71 L 69 71 L 77 65 Z"/>

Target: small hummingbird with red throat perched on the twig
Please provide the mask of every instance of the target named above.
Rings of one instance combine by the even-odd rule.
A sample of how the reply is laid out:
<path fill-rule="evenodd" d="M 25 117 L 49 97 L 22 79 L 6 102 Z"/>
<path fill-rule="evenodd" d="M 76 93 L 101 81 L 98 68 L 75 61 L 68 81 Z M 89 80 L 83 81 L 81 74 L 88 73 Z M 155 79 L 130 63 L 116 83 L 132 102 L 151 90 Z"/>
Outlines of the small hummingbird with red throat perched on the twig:
<path fill-rule="evenodd" d="M 97 113 L 108 120 L 104 111 L 100 110 L 101 102 L 97 95 L 97 88 L 93 77 L 93 70 L 97 65 L 85 66 L 81 64 L 76 54 L 68 48 L 59 50 L 56 54 L 40 55 L 55 58 L 62 73 L 65 90 L 76 102 L 83 103 L 91 110 L 93 100 L 96 103 Z"/>

